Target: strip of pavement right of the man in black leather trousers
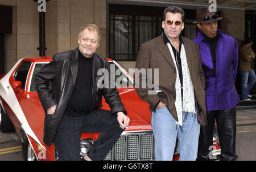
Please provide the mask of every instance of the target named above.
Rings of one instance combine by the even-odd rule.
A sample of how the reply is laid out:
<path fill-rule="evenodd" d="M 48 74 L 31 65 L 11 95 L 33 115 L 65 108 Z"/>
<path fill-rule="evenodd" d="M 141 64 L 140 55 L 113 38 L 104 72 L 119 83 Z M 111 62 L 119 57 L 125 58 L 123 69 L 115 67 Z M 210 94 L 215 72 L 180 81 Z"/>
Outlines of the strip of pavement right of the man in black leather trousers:
<path fill-rule="evenodd" d="M 256 107 L 237 107 L 237 126 L 256 125 Z"/>

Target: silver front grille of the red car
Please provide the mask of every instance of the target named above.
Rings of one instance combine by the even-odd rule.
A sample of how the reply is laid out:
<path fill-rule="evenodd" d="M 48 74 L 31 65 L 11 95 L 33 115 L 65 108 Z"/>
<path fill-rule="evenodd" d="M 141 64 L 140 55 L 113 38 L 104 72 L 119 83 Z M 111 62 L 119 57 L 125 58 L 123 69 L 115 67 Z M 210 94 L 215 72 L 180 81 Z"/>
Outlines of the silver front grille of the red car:
<path fill-rule="evenodd" d="M 177 141 L 175 153 L 177 154 Z M 152 131 L 123 132 L 104 160 L 155 160 Z"/>

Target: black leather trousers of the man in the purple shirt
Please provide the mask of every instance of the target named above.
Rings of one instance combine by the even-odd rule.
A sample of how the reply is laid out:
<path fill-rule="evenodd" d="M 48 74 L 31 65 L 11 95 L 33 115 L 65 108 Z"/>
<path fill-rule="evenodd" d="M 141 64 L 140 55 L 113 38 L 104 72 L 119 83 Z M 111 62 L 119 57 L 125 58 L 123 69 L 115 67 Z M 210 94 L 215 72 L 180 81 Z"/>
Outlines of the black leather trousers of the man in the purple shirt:
<path fill-rule="evenodd" d="M 222 161 L 235 161 L 236 155 L 236 107 L 226 110 L 207 111 L 208 125 L 200 129 L 197 160 L 210 160 L 213 128 L 216 120 Z"/>

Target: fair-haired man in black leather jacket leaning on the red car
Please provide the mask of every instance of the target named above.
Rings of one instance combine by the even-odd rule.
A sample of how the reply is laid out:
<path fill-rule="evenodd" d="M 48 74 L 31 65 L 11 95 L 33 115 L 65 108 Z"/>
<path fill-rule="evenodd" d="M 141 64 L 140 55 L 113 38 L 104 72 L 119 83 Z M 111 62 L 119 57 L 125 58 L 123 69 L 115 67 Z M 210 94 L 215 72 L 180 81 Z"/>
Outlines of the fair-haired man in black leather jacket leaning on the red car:
<path fill-rule="evenodd" d="M 81 160 L 81 133 L 101 132 L 84 158 L 102 160 L 130 119 L 117 89 L 110 87 L 109 62 L 95 53 L 100 45 L 97 25 L 81 27 L 78 44 L 75 50 L 53 55 L 52 61 L 35 76 L 38 96 L 46 111 L 44 143 L 55 145 L 59 160 Z M 98 88 L 102 76 L 97 73 L 102 68 L 109 71 L 109 85 Z M 102 96 L 111 111 L 100 109 Z"/>

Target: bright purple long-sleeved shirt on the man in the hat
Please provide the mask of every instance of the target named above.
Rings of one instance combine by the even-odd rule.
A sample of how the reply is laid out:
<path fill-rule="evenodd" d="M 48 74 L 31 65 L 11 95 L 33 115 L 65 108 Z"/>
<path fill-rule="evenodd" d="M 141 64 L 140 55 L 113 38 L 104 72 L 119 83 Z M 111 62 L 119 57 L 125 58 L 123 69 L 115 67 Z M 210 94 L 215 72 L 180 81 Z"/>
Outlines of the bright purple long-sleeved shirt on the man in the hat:
<path fill-rule="evenodd" d="M 206 84 L 207 111 L 234 108 L 240 100 L 234 85 L 238 66 L 237 41 L 220 29 L 217 30 L 219 38 L 216 45 L 216 75 L 210 77 L 210 71 L 213 69 L 210 46 L 201 33 L 199 31 L 193 41 L 200 47 Z"/>

